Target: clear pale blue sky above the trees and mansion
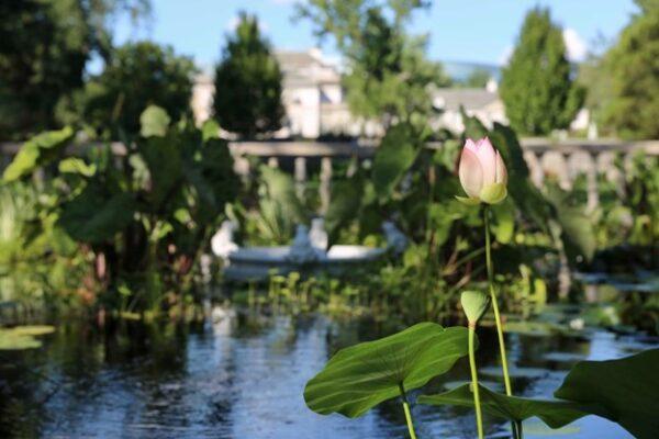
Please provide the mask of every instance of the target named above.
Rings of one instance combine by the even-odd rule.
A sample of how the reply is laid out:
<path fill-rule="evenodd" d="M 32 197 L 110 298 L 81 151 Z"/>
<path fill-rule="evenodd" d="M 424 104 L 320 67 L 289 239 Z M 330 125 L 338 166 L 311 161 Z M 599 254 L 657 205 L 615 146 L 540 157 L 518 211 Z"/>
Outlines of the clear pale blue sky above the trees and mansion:
<path fill-rule="evenodd" d="M 152 38 L 209 66 L 220 57 L 225 35 L 238 11 L 256 13 L 277 48 L 305 49 L 317 45 L 308 21 L 293 23 L 294 0 L 152 0 L 153 19 L 131 29 L 115 24 L 116 43 Z M 595 48 L 601 37 L 614 38 L 636 11 L 633 0 L 434 0 L 415 13 L 410 31 L 429 34 L 433 59 L 502 64 L 512 50 L 524 14 L 536 4 L 551 8 L 566 30 L 574 58 Z M 323 47 L 333 54 L 332 44 Z"/>

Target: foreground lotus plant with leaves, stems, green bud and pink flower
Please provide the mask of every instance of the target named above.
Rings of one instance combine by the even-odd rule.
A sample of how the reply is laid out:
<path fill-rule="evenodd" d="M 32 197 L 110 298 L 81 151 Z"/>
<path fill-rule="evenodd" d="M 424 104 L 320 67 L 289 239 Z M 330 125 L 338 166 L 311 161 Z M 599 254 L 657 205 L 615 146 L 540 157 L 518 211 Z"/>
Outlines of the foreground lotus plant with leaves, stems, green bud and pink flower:
<path fill-rule="evenodd" d="M 472 147 L 476 144 L 468 145 Z M 481 140 L 480 145 L 488 147 L 489 142 Z M 492 154 L 492 157 L 495 160 L 492 164 L 496 164 L 498 156 Z M 494 167 L 496 168 L 495 165 Z M 476 184 L 471 187 L 478 179 L 468 176 L 468 171 L 481 172 L 482 169 L 472 162 L 469 169 L 463 168 L 460 172 L 461 181 L 467 184 L 468 188 L 465 189 L 469 189 L 467 193 L 470 195 L 470 199 L 462 200 L 463 202 L 478 205 L 485 200 L 492 203 L 503 201 L 506 191 L 501 189 L 498 189 L 496 196 L 482 196 L 482 182 L 478 188 Z M 492 181 L 496 181 L 495 176 Z M 358 417 L 377 404 L 399 396 L 410 437 L 416 439 L 406 391 L 421 387 L 433 376 L 446 373 L 458 358 L 469 354 L 472 378 L 470 384 L 438 395 L 422 395 L 417 402 L 474 407 L 479 438 L 484 436 L 481 410 L 510 420 L 515 439 L 523 438 L 522 421 L 529 417 L 539 417 L 550 428 L 558 428 L 587 415 L 615 421 L 641 439 L 657 437 L 659 420 L 654 412 L 659 404 L 659 375 L 656 373 L 659 349 L 619 360 L 578 362 L 555 392 L 555 399 L 512 395 L 503 327 L 494 291 L 489 206 L 483 211 L 490 295 L 476 291 L 462 293 L 462 308 L 469 323 L 467 333 L 461 327 L 444 329 L 433 323 L 422 323 L 380 340 L 344 349 L 327 362 L 323 371 L 309 381 L 304 392 L 306 405 L 322 415 L 339 413 L 347 417 Z M 494 392 L 478 382 L 476 325 L 490 303 L 498 328 L 505 393 Z M 449 335 L 453 337 L 449 338 Z M 450 342 L 446 342 L 446 338 Z"/>

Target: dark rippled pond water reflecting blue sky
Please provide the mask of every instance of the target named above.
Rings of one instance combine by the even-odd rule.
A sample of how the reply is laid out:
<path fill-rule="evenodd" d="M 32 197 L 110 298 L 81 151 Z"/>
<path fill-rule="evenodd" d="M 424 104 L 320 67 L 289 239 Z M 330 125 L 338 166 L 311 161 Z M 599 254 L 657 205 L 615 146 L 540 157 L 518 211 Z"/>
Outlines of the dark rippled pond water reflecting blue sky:
<path fill-rule="evenodd" d="M 305 382 L 331 352 L 394 328 L 372 320 L 225 313 L 216 323 L 123 323 L 99 331 L 69 323 L 40 349 L 0 351 L 2 438 L 403 438 L 401 406 L 382 404 L 359 419 L 320 416 L 303 401 Z M 496 381 L 492 333 L 480 336 L 481 379 Z M 656 347 L 656 340 L 592 331 L 569 337 L 510 335 L 518 394 L 549 396 L 580 359 L 612 359 Z M 488 376 L 491 374 L 491 376 Z M 468 378 L 460 362 L 425 392 Z M 412 395 L 414 399 L 416 395 Z M 415 406 L 421 438 L 473 438 L 466 409 Z M 509 437 L 488 419 L 490 437 Z M 527 438 L 545 437 L 539 421 Z M 569 438 L 626 438 L 595 417 L 562 430 Z"/>

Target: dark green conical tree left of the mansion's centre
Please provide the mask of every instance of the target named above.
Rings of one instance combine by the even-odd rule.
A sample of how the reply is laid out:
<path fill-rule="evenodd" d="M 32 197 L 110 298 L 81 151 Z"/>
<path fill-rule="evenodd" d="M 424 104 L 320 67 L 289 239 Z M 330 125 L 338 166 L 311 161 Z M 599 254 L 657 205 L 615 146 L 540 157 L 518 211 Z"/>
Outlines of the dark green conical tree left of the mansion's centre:
<path fill-rule="evenodd" d="M 241 13 L 215 69 L 215 120 L 226 131 L 246 138 L 281 127 L 282 75 L 258 20 Z"/>

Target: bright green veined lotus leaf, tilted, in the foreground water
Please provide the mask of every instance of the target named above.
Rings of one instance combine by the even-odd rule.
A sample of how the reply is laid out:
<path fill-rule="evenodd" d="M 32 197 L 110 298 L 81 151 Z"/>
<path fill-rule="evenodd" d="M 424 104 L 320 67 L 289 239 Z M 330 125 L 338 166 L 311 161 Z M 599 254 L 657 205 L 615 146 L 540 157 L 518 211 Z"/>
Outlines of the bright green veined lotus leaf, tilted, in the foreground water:
<path fill-rule="evenodd" d="M 338 351 L 306 383 L 312 410 L 354 418 L 404 390 L 421 387 L 467 354 L 468 330 L 421 323 L 376 341 Z"/>

